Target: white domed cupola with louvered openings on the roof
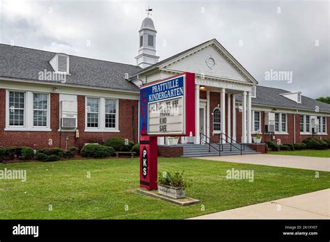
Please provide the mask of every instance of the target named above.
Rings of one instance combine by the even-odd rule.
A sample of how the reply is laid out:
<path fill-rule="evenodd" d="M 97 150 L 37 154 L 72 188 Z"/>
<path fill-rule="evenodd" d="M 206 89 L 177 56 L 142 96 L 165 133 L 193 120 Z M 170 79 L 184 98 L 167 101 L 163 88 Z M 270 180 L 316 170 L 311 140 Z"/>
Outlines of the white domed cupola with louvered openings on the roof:
<path fill-rule="evenodd" d="M 139 55 L 135 57 L 136 65 L 146 68 L 158 62 L 156 56 L 156 29 L 150 17 L 143 19 L 139 30 Z"/>

